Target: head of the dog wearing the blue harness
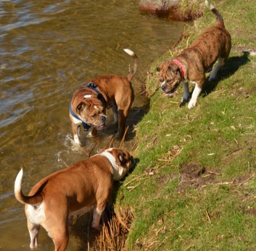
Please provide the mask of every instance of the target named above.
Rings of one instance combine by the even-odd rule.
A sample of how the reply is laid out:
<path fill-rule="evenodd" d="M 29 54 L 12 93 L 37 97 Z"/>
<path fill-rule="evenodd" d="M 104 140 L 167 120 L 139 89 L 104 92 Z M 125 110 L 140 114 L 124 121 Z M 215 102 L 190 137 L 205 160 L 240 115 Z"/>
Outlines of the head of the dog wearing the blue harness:
<path fill-rule="evenodd" d="M 105 115 L 106 108 L 105 104 L 97 96 L 91 94 L 85 95 L 79 104 L 76 105 L 76 113 L 89 126 L 93 126 L 97 130 L 102 130 L 107 120 L 107 116 Z"/>

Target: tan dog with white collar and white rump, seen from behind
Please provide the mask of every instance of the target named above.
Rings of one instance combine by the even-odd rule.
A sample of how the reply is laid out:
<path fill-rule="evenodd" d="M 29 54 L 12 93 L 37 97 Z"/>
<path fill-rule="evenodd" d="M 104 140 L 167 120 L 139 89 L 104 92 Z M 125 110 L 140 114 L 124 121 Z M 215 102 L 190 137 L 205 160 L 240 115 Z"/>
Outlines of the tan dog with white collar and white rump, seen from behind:
<path fill-rule="evenodd" d="M 83 215 L 92 206 L 93 228 L 99 229 L 113 180 L 122 179 L 133 164 L 133 157 L 126 150 L 101 150 L 91 158 L 42 179 L 28 195 L 22 192 L 23 170 L 20 170 L 14 193 L 16 199 L 25 204 L 30 248 L 38 246 L 38 233 L 43 226 L 54 241 L 55 250 L 65 250 L 73 216 Z"/>

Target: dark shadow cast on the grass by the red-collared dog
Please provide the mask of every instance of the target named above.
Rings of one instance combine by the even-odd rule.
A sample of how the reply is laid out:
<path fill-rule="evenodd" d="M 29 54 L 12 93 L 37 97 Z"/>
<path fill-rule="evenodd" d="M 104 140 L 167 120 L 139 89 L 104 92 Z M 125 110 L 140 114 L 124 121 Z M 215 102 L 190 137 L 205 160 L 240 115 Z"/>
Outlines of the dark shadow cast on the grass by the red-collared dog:
<path fill-rule="evenodd" d="M 248 56 L 249 52 L 244 51 L 242 56 L 229 57 L 226 64 L 218 71 L 217 78 L 215 80 L 208 81 L 209 78 L 207 78 L 207 84 L 204 86 L 202 96 L 208 96 L 212 91 L 214 91 L 221 80 L 229 78 L 229 76 L 233 75 L 242 65 L 249 63 L 250 59 Z"/>

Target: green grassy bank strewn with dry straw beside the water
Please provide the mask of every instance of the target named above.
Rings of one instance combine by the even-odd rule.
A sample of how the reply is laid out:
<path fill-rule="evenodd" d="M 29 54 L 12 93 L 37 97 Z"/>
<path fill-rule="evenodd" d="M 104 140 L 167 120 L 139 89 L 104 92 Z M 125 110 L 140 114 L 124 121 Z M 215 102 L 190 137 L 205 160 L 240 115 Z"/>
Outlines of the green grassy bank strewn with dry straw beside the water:
<path fill-rule="evenodd" d="M 172 99 L 164 97 L 156 66 L 215 23 L 209 10 L 147 77 L 150 109 L 136 127 L 133 152 L 139 163 L 116 200 L 134 215 L 128 250 L 256 249 L 256 6 L 254 0 L 212 3 L 233 48 L 197 106 L 180 107 L 182 86 Z"/>

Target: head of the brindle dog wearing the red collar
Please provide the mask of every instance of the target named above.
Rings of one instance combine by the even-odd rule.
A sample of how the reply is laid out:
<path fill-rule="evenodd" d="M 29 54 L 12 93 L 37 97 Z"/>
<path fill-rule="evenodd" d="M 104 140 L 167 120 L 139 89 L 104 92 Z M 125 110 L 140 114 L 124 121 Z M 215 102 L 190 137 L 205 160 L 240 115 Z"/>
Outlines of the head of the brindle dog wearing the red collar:
<path fill-rule="evenodd" d="M 180 68 L 173 61 L 169 61 L 160 65 L 157 70 L 160 72 L 159 78 L 163 93 L 167 97 L 173 96 L 182 80 Z"/>

